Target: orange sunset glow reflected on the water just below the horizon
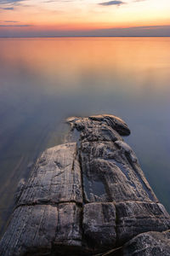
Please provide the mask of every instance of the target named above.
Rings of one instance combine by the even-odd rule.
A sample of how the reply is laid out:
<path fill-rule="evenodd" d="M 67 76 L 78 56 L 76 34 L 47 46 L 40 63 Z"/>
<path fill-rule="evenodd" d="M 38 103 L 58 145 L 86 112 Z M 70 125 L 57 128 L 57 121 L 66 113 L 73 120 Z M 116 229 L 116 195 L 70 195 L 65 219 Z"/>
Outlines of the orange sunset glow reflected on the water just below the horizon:
<path fill-rule="evenodd" d="M 98 88 L 108 90 L 111 81 L 121 83 L 122 79 L 128 85 L 133 81 L 139 90 L 145 80 L 152 80 L 161 90 L 170 79 L 170 38 L 15 38 L 0 42 L 1 59 L 7 65 L 16 70 L 20 65 L 26 67 L 47 80 L 47 87 L 53 82 L 54 87 L 62 84 L 61 90 L 72 90 L 69 84 L 78 87 L 83 77 L 87 86 L 94 81 Z"/>

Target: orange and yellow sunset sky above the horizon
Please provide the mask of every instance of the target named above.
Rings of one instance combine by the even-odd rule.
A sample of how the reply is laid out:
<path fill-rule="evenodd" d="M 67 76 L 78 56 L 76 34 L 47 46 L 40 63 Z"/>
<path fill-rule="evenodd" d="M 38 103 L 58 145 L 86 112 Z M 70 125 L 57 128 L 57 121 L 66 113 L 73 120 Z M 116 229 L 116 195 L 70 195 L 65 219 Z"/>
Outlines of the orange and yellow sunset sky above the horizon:
<path fill-rule="evenodd" d="M 0 0 L 0 37 L 170 36 L 169 0 Z"/>

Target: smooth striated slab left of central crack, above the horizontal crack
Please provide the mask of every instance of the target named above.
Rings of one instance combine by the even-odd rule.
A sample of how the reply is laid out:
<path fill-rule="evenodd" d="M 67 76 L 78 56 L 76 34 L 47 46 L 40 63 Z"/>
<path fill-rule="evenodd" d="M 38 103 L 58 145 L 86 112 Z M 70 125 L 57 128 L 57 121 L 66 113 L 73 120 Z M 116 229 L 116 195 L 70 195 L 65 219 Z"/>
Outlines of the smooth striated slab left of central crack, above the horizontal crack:
<path fill-rule="evenodd" d="M 48 148 L 37 161 L 26 185 L 22 185 L 17 194 L 19 206 L 65 201 L 82 203 L 77 143 Z"/>

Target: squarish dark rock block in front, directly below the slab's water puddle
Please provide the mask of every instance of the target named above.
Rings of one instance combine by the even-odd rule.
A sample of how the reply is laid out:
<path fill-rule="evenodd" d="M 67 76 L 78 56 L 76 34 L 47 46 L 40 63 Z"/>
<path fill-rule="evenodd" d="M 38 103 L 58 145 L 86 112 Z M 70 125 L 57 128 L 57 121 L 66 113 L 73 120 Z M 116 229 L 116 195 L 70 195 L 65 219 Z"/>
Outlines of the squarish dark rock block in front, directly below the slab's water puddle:
<path fill-rule="evenodd" d="M 116 246 L 115 205 L 111 202 L 86 204 L 83 207 L 82 230 L 91 252 Z"/>

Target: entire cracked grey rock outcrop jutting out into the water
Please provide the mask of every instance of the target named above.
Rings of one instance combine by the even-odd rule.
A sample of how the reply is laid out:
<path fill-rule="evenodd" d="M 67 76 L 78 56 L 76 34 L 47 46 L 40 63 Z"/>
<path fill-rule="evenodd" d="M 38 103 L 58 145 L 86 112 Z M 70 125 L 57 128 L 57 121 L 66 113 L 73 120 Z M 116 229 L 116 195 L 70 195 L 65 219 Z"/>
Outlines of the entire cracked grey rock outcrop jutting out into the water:
<path fill-rule="evenodd" d="M 0 255 L 170 255 L 170 217 L 113 115 L 69 118 L 68 143 L 48 148 L 0 241 Z"/>

